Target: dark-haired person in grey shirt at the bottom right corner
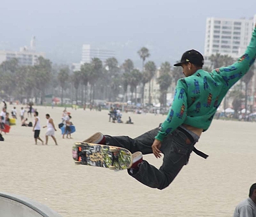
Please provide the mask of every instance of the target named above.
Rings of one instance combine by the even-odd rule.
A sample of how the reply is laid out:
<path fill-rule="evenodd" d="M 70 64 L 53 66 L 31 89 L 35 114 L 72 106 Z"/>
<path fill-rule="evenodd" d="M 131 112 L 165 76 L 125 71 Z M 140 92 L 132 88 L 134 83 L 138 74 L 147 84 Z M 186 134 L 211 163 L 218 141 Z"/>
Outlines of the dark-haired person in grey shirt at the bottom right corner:
<path fill-rule="evenodd" d="M 236 206 L 234 217 L 256 217 L 256 183 L 251 185 L 249 197 Z"/>

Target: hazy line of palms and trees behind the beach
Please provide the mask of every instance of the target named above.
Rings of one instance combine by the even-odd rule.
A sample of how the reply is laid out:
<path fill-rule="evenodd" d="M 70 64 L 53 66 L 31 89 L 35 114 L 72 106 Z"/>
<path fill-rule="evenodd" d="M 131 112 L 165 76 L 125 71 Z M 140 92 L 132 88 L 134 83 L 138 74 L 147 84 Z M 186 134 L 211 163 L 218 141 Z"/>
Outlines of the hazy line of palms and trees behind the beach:
<path fill-rule="evenodd" d="M 61 98 L 62 104 L 63 98 L 70 98 L 72 102 L 79 101 L 80 104 L 92 104 L 97 99 L 110 102 L 131 100 L 135 104 L 139 102 L 144 105 L 144 89 L 148 84 L 147 103 L 150 105 L 151 80 L 156 78 L 160 92 L 158 100 L 161 106 L 166 106 L 168 89 L 183 77 L 181 67 L 171 67 L 168 61 L 157 67 L 154 61 L 146 61 L 150 57 L 146 47 L 142 47 L 137 53 L 142 60 L 142 70 L 135 68 L 131 59 L 125 59 L 119 64 L 115 57 L 104 62 L 96 57 L 92 58 L 90 63 L 84 63 L 79 71 L 74 72 L 67 65 L 54 65 L 44 57 L 39 57 L 38 64 L 34 66 L 19 65 L 18 59 L 10 59 L 0 65 L 0 94 L 20 102 L 35 98 L 38 104 L 43 104 L 47 94 L 53 94 Z M 210 62 L 212 65 L 205 67 L 206 71 L 231 65 L 234 59 L 216 53 L 210 56 Z M 241 79 L 240 89 L 236 88 L 236 91 L 230 93 L 235 110 L 241 107 L 243 99 L 247 107 L 248 85 L 252 77 L 253 69 Z M 245 88 L 242 88 L 242 84 L 245 84 Z M 140 99 L 137 98 L 138 88 L 141 88 Z"/>

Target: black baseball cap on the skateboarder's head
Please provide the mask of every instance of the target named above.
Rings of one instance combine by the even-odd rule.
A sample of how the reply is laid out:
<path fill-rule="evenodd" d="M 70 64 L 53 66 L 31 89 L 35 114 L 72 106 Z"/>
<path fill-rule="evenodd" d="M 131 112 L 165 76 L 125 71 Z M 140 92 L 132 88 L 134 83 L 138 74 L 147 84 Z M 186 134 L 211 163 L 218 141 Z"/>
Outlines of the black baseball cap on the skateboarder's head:
<path fill-rule="evenodd" d="M 193 63 L 198 66 L 204 65 L 204 57 L 195 49 L 191 49 L 189 51 L 185 51 L 181 57 L 181 61 L 179 63 L 174 64 L 175 67 L 180 67 L 182 63 Z"/>

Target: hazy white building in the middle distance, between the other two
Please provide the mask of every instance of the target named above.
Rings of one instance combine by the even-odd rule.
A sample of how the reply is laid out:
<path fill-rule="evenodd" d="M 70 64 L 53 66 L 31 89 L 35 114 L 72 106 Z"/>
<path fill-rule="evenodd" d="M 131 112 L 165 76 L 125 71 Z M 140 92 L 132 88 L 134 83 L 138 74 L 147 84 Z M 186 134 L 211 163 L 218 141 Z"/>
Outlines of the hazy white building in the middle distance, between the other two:
<path fill-rule="evenodd" d="M 106 59 L 114 56 L 115 56 L 114 51 L 110 51 L 107 49 L 99 49 L 99 48 L 93 47 L 90 44 L 82 45 L 82 63 L 90 63 L 90 61 L 94 57 L 97 57 L 102 62 L 104 62 L 106 61 Z"/>

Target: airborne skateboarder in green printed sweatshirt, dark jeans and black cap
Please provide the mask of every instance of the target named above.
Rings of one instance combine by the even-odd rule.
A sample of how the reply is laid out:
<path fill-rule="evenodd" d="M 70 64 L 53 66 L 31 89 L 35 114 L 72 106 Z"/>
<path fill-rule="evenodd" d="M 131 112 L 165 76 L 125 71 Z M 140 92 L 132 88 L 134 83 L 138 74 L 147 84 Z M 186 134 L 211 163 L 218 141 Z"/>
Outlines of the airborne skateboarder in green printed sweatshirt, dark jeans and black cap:
<path fill-rule="evenodd" d="M 228 90 L 249 71 L 255 57 L 256 28 L 245 54 L 233 65 L 214 69 L 211 73 L 202 69 L 204 58 L 199 51 L 186 51 L 181 61 L 174 65 L 183 68 L 185 78 L 177 81 L 174 102 L 160 127 L 135 139 L 96 133 L 85 142 L 111 144 L 127 148 L 132 153 L 141 152 L 140 157 L 133 160 L 133 166 L 128 170 L 129 175 L 148 187 L 164 189 L 187 164 L 192 151 L 207 158 L 207 154 L 195 149 L 195 143 L 201 133 L 210 127 Z M 151 153 L 156 158 L 164 154 L 159 170 L 143 160 L 142 154 Z"/>

